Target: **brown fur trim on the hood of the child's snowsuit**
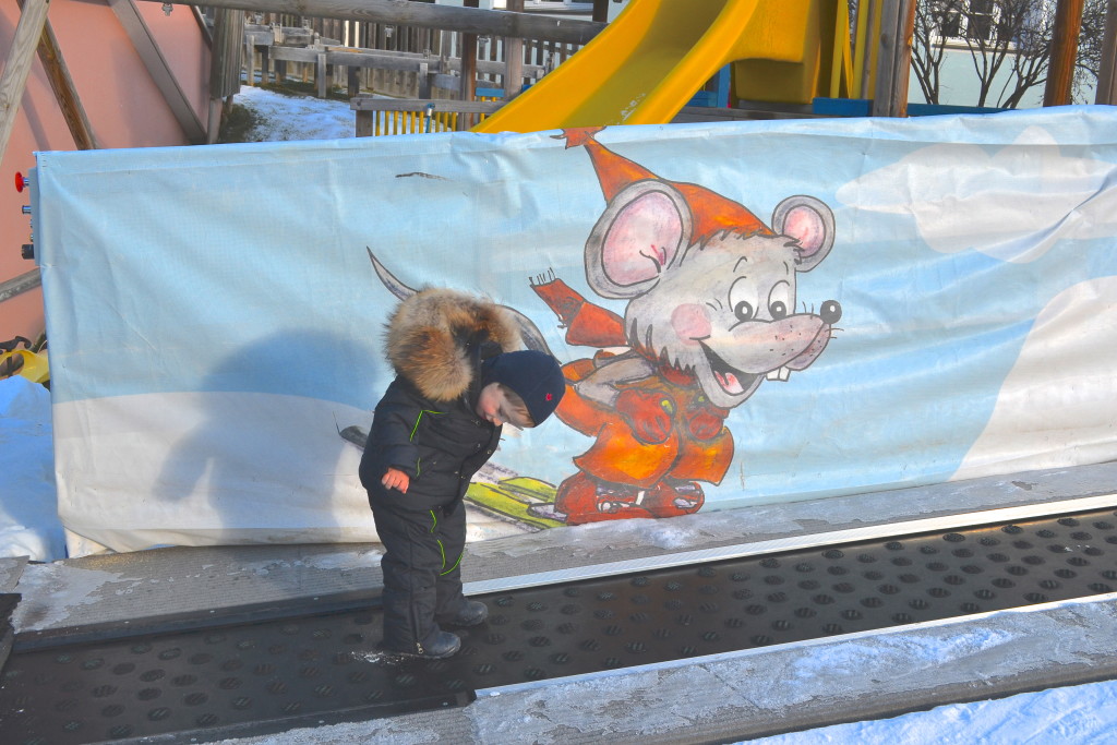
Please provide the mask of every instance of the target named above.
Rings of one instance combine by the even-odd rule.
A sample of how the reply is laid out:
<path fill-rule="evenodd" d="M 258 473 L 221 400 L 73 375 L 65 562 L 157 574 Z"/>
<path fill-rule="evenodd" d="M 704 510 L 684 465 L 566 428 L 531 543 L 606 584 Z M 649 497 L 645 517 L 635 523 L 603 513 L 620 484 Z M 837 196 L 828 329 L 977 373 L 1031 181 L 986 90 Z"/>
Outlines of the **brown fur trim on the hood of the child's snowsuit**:
<path fill-rule="evenodd" d="M 522 346 L 510 312 L 489 299 L 445 288 L 423 289 L 388 319 L 385 352 L 397 374 L 436 401 L 452 401 L 474 382 L 466 344 L 491 342 L 502 352 Z"/>

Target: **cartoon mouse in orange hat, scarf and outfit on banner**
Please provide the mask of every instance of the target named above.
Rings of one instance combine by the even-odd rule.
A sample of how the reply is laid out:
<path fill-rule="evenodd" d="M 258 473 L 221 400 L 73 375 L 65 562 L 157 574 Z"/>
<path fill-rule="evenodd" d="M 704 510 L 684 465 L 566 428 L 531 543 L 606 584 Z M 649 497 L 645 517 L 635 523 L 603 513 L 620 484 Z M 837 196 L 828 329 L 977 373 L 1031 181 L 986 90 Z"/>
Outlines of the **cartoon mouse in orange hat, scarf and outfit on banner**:
<path fill-rule="evenodd" d="M 557 489 L 554 509 L 567 524 L 698 510 L 699 483 L 719 484 L 733 460 L 729 410 L 765 379 L 810 366 L 841 317 L 834 300 L 796 312 L 796 276 L 833 245 L 825 204 L 791 197 L 766 226 L 709 189 L 613 153 L 594 139 L 601 128 L 560 136 L 585 147 L 608 202 L 585 243 L 586 280 L 626 300 L 624 316 L 561 279 L 533 284 L 567 343 L 600 350 L 564 366 L 556 413 L 594 438 Z"/>

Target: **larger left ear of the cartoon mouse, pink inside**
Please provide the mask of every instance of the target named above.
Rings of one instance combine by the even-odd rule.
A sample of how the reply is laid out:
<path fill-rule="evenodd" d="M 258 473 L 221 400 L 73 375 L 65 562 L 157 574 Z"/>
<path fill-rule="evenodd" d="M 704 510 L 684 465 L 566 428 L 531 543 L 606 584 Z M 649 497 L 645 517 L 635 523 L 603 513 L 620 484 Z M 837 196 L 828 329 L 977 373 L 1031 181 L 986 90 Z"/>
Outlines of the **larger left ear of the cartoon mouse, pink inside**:
<path fill-rule="evenodd" d="M 602 297 L 643 295 L 681 258 L 693 218 L 677 189 L 638 181 L 617 193 L 585 241 L 585 273 Z"/>

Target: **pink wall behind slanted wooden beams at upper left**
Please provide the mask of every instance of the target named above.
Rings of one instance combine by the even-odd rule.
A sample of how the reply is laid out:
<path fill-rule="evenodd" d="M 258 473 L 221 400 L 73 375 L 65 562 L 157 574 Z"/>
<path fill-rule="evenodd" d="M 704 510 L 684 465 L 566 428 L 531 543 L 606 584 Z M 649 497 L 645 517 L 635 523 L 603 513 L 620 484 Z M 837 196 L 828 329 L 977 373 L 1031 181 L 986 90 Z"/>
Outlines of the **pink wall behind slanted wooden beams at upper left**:
<path fill-rule="evenodd" d="M 137 1 L 152 37 L 171 66 L 202 125 L 206 124 L 209 50 L 190 8 L 175 6 L 166 16 L 160 3 Z M 102 147 L 187 145 L 185 135 L 106 0 L 54 0 L 48 21 L 69 68 L 78 97 Z M 16 0 L 0 2 L 0 50 L 3 61 L 19 22 Z M 20 102 L 16 125 L 0 163 L 0 283 L 35 269 L 20 258 L 28 242 L 29 218 L 20 207 L 16 172 L 35 168 L 35 151 L 74 150 L 42 65 L 36 57 Z M 42 332 L 42 296 L 31 290 L 0 303 L 0 341 L 34 338 Z"/>

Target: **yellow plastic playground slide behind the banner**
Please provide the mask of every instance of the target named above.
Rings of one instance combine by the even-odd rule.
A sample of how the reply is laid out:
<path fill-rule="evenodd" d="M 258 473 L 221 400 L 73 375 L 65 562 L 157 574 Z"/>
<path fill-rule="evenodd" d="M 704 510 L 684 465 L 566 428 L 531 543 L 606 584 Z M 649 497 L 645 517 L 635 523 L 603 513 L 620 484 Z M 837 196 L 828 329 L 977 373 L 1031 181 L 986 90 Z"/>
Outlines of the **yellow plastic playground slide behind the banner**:
<path fill-rule="evenodd" d="M 820 6 L 833 4 L 631 0 L 590 44 L 472 131 L 670 122 L 728 63 L 755 59 L 817 70 L 821 46 L 812 19 Z"/>

